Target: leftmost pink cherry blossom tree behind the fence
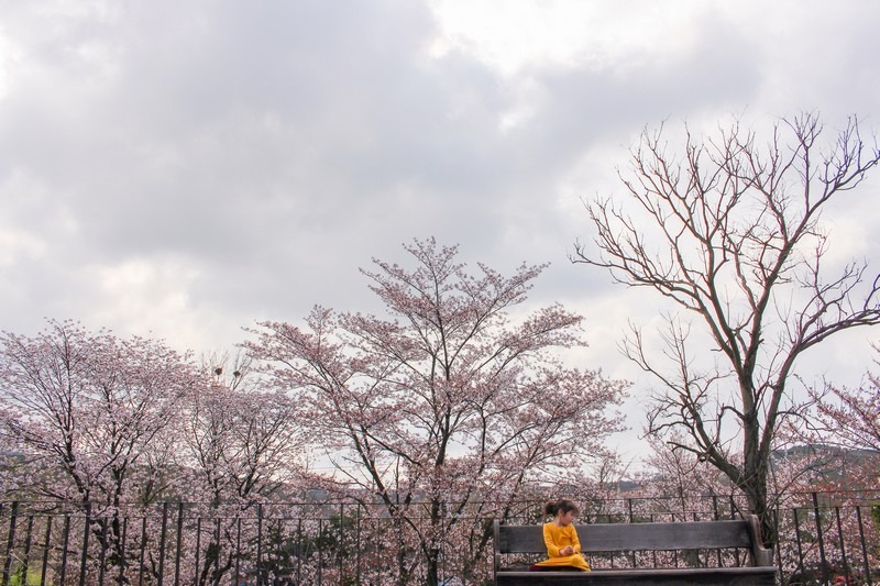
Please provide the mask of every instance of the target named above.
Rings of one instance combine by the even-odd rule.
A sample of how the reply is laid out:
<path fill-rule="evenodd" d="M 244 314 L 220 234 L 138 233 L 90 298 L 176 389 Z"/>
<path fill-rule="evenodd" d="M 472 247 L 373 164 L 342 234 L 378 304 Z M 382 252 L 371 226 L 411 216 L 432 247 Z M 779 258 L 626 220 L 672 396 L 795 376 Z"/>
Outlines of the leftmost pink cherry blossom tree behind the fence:
<path fill-rule="evenodd" d="M 54 320 L 34 338 L 3 332 L 0 433 L 26 463 L 19 489 L 109 518 L 117 546 L 120 508 L 165 468 L 158 438 L 198 385 L 189 357 L 154 340 Z"/>

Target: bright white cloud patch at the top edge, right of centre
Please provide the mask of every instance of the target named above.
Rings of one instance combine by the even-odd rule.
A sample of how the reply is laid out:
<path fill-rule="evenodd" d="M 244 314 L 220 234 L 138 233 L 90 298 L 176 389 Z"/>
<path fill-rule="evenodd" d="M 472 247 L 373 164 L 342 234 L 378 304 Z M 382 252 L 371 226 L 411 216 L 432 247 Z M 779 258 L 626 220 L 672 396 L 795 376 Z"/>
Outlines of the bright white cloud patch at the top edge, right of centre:
<path fill-rule="evenodd" d="M 711 3 L 436 0 L 443 36 L 435 54 L 468 52 L 516 76 L 543 67 L 610 69 L 661 64 L 689 49 Z"/>

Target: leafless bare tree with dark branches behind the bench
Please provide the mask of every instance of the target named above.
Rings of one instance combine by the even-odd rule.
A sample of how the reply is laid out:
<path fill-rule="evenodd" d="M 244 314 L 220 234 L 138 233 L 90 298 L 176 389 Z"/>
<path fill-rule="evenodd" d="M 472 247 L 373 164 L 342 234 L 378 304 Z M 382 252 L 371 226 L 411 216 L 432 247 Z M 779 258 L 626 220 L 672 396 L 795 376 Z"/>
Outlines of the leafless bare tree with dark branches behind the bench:
<path fill-rule="evenodd" d="M 576 243 L 572 261 L 695 317 L 667 317 L 661 357 L 636 327 L 623 342 L 659 380 L 647 432 L 724 472 L 772 542 L 768 465 L 776 431 L 796 408 L 787 392 L 795 362 L 837 332 L 880 322 L 878 278 L 866 279 L 866 263 L 829 276 L 820 222 L 880 151 L 862 142 L 857 118 L 828 148 L 809 113 L 776 124 L 766 145 L 738 122 L 710 139 L 684 130 L 682 154 L 668 151 L 662 126 L 642 132 L 618 173 L 627 200 L 587 202 L 598 252 Z"/>

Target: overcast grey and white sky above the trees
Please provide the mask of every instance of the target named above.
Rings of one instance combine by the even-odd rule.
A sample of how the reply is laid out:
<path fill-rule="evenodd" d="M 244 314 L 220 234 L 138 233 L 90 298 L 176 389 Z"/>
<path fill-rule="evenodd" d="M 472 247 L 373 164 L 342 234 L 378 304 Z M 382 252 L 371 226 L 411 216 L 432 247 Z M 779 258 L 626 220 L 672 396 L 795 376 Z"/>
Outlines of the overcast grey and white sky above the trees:
<path fill-rule="evenodd" d="M 878 31 L 875 0 L 0 0 L 0 329 L 229 347 L 373 309 L 359 267 L 436 236 L 551 262 L 532 301 L 584 313 L 584 365 L 644 392 L 615 345 L 652 298 L 569 263 L 582 198 L 620 194 L 663 120 L 876 132 Z M 829 215 L 840 258 L 880 263 L 878 185 Z M 878 339 L 820 374 L 857 380 Z"/>

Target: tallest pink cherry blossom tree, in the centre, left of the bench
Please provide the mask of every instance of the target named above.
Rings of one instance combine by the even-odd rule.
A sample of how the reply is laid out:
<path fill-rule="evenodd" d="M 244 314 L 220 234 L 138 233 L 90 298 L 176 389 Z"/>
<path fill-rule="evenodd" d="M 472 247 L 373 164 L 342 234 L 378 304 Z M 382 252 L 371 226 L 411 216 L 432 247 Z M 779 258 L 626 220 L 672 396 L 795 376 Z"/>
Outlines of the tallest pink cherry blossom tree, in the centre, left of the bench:
<path fill-rule="evenodd" d="M 397 579 L 437 584 L 465 505 L 510 501 L 601 454 L 625 384 L 564 364 L 584 345 L 581 317 L 521 309 L 543 266 L 474 274 L 433 239 L 405 250 L 415 268 L 363 270 L 387 318 L 316 307 L 304 328 L 262 323 L 246 347 L 304 406 L 337 487 L 399 523 Z"/>

